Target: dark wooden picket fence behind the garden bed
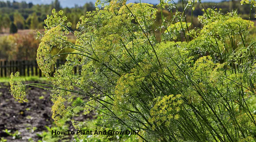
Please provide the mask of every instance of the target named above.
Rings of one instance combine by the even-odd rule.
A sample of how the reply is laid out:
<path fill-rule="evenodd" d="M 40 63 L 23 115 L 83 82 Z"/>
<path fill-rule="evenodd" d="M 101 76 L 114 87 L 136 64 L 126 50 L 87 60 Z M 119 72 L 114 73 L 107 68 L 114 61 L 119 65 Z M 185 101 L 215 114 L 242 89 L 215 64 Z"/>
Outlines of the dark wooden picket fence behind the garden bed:
<path fill-rule="evenodd" d="M 57 60 L 56 66 L 64 64 L 65 61 Z M 10 77 L 11 72 L 20 72 L 20 76 L 43 76 L 38 64 L 35 60 L 33 61 L 0 61 L 0 77 Z M 55 67 L 52 66 L 52 72 L 55 72 Z M 74 67 L 74 73 L 78 73 L 79 69 Z M 53 75 L 53 74 L 52 74 Z"/>

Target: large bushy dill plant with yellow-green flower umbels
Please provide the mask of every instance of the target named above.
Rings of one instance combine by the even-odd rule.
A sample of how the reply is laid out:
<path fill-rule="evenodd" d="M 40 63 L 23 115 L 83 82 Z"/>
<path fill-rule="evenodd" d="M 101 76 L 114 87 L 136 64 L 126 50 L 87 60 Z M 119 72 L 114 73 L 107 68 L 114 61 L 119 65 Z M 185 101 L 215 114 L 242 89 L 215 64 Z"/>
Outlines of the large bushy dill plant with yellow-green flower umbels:
<path fill-rule="evenodd" d="M 17 73 L 11 75 L 11 93 L 26 102 L 26 86 L 50 90 L 57 125 L 83 107 L 85 114 L 101 116 L 95 129 L 140 130 L 140 141 L 255 141 L 256 40 L 246 36 L 254 23 L 236 11 L 223 14 L 202 5 L 205 13 L 198 19 L 203 28 L 192 28 L 185 12 L 193 11 L 196 2 L 201 3 L 182 0 L 183 11 L 169 21 L 161 14 L 160 41 L 155 36 L 157 9 L 151 4 L 98 0 L 74 32 L 63 11 L 53 9 L 46 31 L 38 33 L 37 54 L 52 84 L 24 84 Z M 254 0 L 241 3 L 255 5 Z M 171 1 L 160 0 L 158 6 L 177 10 Z M 67 41 L 68 33 L 76 36 L 75 44 Z M 74 51 L 52 55 L 53 46 Z M 68 55 L 67 61 L 53 80 L 54 57 L 62 55 Z M 83 99 L 69 105 L 71 93 Z M 87 122 L 72 120 L 77 129 Z M 106 137 L 111 138 L 99 136 Z"/>

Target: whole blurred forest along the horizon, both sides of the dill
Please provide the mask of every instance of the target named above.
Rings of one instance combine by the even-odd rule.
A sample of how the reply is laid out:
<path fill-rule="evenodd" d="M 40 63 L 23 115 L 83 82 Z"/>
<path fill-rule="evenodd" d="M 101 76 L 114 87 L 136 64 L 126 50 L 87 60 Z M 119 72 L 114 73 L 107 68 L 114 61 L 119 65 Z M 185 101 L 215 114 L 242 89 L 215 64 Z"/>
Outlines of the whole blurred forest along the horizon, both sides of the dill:
<path fill-rule="evenodd" d="M 183 1 L 187 3 L 187 1 Z M 178 1 L 177 5 L 182 11 L 182 7 L 179 6 L 182 4 L 182 1 Z M 227 11 L 232 11 L 232 9 L 237 9 L 238 13 L 241 14 L 243 19 L 249 19 L 250 13 L 250 5 L 241 5 L 240 1 L 222 1 L 219 3 L 213 2 L 204 2 L 203 3 L 205 8 L 221 8 L 221 12 L 226 13 Z M 156 5 L 155 5 L 156 7 Z M 195 4 L 195 10 L 193 11 L 193 15 L 195 19 L 193 19 L 193 26 L 200 27 L 199 22 L 197 22 L 196 17 L 198 15 L 202 15 L 202 6 L 200 3 Z M 90 2 L 85 4 L 84 6 L 75 6 L 73 8 L 62 8 L 60 6 L 60 2 L 58 0 L 53 1 L 51 4 L 37 4 L 34 5 L 31 2 L 10 2 L 10 1 L 0 1 L 0 32 L 3 29 L 10 28 L 10 25 L 15 25 L 18 29 L 43 29 L 44 20 L 46 19 L 46 15 L 51 14 L 52 9 L 56 9 L 57 11 L 62 9 L 67 17 L 67 21 L 72 23 L 71 29 L 76 29 L 76 23 L 79 21 L 79 17 L 81 15 L 85 15 L 86 12 L 92 11 L 95 9 L 94 3 Z M 175 12 L 176 9 L 173 9 L 172 12 Z M 189 16 L 191 15 L 191 10 L 187 10 L 186 14 Z M 251 18 L 255 20 L 254 13 L 255 8 L 253 7 Z M 160 10 L 158 10 L 158 14 L 160 14 Z M 163 14 L 168 18 L 170 17 L 170 11 L 166 8 L 163 11 Z M 161 16 L 157 16 L 156 23 L 161 23 Z"/>

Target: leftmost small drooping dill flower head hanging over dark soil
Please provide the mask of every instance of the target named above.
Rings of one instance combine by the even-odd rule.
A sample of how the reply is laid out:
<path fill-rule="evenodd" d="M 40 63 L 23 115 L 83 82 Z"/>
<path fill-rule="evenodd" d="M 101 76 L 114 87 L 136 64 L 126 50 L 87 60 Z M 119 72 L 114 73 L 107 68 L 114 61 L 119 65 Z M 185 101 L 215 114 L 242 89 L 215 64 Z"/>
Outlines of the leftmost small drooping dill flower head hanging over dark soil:
<path fill-rule="evenodd" d="M 26 85 L 21 79 L 19 79 L 19 72 L 16 72 L 15 75 L 11 73 L 10 86 L 11 86 L 11 95 L 15 99 L 19 99 L 19 102 L 27 102 L 26 99 Z"/>

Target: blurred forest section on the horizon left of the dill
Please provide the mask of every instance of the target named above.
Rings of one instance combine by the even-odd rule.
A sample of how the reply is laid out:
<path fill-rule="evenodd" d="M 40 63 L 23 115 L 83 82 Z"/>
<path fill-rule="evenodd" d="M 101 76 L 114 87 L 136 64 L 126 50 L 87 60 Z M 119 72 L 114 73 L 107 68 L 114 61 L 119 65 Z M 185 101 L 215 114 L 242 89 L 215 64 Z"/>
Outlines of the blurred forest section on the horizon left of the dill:
<path fill-rule="evenodd" d="M 9 28 L 13 22 L 18 29 L 42 29 L 44 20 L 52 9 L 65 12 L 67 21 L 72 22 L 72 29 L 76 28 L 80 16 L 87 11 L 95 9 L 94 3 L 87 3 L 83 7 L 75 6 L 74 8 L 62 8 L 58 0 L 51 4 L 37 4 L 26 2 L 10 2 L 0 1 L 0 28 Z"/>

